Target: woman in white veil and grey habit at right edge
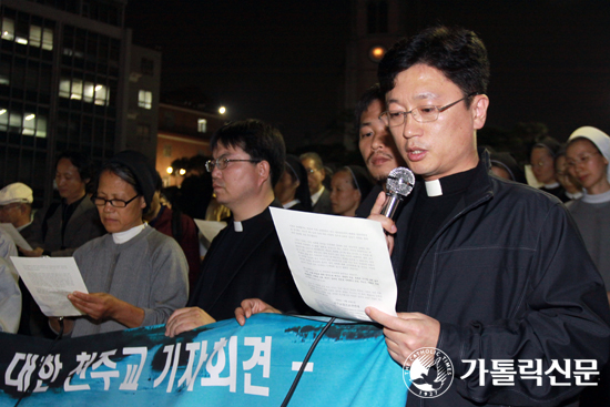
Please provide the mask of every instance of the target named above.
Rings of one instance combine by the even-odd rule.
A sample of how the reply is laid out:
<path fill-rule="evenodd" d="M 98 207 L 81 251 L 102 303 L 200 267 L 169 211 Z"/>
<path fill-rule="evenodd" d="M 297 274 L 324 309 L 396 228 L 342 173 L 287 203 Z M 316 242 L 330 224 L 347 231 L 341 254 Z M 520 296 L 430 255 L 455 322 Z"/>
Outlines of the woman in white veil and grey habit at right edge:
<path fill-rule="evenodd" d="M 568 210 L 610 292 L 610 138 L 596 128 L 580 128 L 568 139 L 566 159 L 570 174 L 584 189 Z"/>

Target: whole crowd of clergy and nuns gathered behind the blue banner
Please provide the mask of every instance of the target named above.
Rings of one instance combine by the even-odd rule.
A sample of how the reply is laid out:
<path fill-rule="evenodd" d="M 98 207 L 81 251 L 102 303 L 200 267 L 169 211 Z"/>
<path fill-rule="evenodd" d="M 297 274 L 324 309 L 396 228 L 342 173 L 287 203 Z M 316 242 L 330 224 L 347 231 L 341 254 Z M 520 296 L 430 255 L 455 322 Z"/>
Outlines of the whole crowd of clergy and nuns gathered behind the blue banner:
<path fill-rule="evenodd" d="M 10 265 L 17 247 L 0 233 L 2 330 L 83 336 L 165 324 L 173 337 L 220 319 L 245 324 L 261 312 L 314 314 L 273 225 L 270 207 L 283 207 L 368 217 L 385 228 L 398 314 L 366 312 L 396 363 L 436 347 L 454 360 L 456 377 L 467 370 L 461 359 L 547 368 L 594 359 L 601 370 L 610 356 L 610 138 L 592 126 L 558 136 L 563 144 L 543 138 L 527 166 L 510 152 L 477 147 L 489 62 L 467 30 L 436 27 L 398 42 L 378 77 L 355 109 L 365 166 L 331 174 L 317 153 L 286 154 L 279 131 L 251 119 L 221 128 L 212 157 L 196 157 L 177 191 L 163 190 L 135 151 L 96 173 L 80 153 L 59 155 L 61 201 L 33 215 L 32 191 L 4 186 L 0 221 L 32 247 L 19 255 L 73 256 L 90 294 L 68 296 L 83 316 L 63 328 L 41 316 Z M 390 220 L 380 211 L 397 166 L 417 182 Z M 193 218 L 227 222 L 205 252 Z M 572 406 L 581 390 L 472 376 L 408 405 Z"/>

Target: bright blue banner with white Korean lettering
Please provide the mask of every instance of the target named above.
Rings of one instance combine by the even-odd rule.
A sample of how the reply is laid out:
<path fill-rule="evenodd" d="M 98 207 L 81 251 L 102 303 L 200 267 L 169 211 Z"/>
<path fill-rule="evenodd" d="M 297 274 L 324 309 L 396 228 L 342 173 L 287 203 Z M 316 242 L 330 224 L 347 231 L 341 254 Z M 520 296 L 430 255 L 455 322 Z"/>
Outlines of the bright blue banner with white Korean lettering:
<path fill-rule="evenodd" d="M 164 325 L 59 342 L 0 334 L 0 406 L 21 397 L 20 406 L 279 406 L 324 325 L 258 314 L 175 338 Z M 404 407 L 406 398 L 382 329 L 334 324 L 289 406 Z"/>

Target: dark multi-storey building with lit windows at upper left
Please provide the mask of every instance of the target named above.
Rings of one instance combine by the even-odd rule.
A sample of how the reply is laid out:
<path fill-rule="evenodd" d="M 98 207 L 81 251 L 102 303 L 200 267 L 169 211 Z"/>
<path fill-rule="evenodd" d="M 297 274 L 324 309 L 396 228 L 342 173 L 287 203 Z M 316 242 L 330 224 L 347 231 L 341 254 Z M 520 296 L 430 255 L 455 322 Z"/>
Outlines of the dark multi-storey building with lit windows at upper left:
<path fill-rule="evenodd" d="M 49 203 L 59 152 L 155 159 L 161 54 L 132 45 L 125 4 L 2 0 L 0 185 L 23 182 Z"/>

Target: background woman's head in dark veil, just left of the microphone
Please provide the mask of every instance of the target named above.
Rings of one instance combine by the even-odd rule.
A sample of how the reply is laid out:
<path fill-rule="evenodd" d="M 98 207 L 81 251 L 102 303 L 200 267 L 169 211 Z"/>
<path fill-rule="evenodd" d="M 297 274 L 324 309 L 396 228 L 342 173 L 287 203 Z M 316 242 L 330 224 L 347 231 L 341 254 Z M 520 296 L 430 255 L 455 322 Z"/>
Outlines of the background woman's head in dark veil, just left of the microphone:
<path fill-rule="evenodd" d="M 368 172 L 358 165 L 347 165 L 331 180 L 331 205 L 335 215 L 356 216 L 356 210 L 373 189 Z"/>

